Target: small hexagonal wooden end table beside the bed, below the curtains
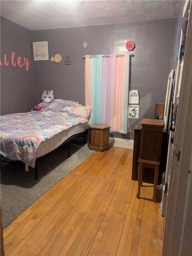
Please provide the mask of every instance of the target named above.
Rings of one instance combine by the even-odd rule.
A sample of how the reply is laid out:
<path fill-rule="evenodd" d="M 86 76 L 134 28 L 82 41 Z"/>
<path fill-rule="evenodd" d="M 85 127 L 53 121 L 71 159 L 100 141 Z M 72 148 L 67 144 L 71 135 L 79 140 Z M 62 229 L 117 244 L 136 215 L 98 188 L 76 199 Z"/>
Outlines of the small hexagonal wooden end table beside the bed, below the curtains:
<path fill-rule="evenodd" d="M 88 147 L 95 151 L 105 151 L 109 149 L 109 129 L 107 124 L 89 124 Z"/>

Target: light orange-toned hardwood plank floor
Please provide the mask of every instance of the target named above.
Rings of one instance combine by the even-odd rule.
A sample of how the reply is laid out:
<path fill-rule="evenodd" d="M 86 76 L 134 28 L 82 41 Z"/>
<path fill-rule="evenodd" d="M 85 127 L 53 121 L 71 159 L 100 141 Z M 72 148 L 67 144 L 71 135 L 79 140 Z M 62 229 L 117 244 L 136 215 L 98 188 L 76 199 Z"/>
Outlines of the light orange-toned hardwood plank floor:
<path fill-rule="evenodd" d="M 132 156 L 94 152 L 5 228 L 5 255 L 161 255 L 160 205 L 136 198 Z M 152 199 L 143 185 L 141 197 Z"/>

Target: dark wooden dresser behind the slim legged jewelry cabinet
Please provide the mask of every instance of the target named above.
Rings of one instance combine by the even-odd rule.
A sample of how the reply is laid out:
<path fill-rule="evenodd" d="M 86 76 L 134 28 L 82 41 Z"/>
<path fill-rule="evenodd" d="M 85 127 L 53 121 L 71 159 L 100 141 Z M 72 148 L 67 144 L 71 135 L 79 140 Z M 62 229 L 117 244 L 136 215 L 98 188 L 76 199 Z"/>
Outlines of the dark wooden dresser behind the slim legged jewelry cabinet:
<path fill-rule="evenodd" d="M 147 119 L 154 119 L 154 118 L 147 117 Z M 139 155 L 140 155 L 141 128 L 142 128 L 141 121 L 142 121 L 142 119 L 139 119 L 139 122 L 134 129 L 132 180 L 138 180 L 138 165 L 139 165 L 138 160 L 139 160 Z M 158 182 L 157 182 L 158 185 L 161 184 L 162 174 L 163 174 L 163 172 L 165 172 L 166 154 L 167 154 L 166 131 L 165 131 L 165 129 L 163 129 L 159 176 L 158 176 Z M 143 182 L 153 184 L 153 182 L 154 182 L 154 170 L 153 169 L 144 168 Z"/>

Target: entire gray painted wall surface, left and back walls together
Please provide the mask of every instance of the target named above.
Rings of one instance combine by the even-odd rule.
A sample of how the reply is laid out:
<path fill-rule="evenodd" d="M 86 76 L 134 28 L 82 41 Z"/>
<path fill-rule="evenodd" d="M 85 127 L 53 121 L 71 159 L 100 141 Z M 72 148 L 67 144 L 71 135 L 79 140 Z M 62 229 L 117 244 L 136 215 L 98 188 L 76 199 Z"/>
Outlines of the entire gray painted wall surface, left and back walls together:
<path fill-rule="evenodd" d="M 154 114 L 156 102 L 164 103 L 167 76 L 173 59 L 178 19 L 109 24 L 66 29 L 30 31 L 1 17 L 1 61 L 11 52 L 27 57 L 29 71 L 25 68 L 1 66 L 1 114 L 29 111 L 38 104 L 45 89 L 53 89 L 55 98 L 79 100 L 85 104 L 84 60 L 85 54 L 110 54 L 126 51 L 127 40 L 136 43 L 135 57 L 131 62 L 131 88 L 140 93 L 139 116 Z M 34 61 L 32 42 L 48 41 L 49 61 Z M 88 43 L 87 48 L 83 43 Z M 60 53 L 59 64 L 50 57 Z M 64 65 L 70 56 L 71 65 Z M 173 63 L 173 61 L 172 61 Z M 131 133 L 115 137 L 133 139 L 138 119 L 130 120 Z"/>

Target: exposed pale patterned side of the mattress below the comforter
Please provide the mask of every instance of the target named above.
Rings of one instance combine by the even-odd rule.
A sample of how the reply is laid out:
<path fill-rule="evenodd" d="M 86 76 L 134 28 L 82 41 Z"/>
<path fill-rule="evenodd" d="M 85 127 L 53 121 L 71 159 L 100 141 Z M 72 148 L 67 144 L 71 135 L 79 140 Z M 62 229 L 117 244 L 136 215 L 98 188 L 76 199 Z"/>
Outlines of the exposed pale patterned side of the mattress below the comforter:
<path fill-rule="evenodd" d="M 87 130 L 87 128 L 88 122 L 84 124 L 77 124 L 73 127 L 68 128 L 67 130 L 60 132 L 59 134 L 56 134 L 51 139 L 42 142 L 37 150 L 37 157 L 48 154 L 49 152 L 58 148 L 69 137 L 77 133 L 84 132 Z"/>

